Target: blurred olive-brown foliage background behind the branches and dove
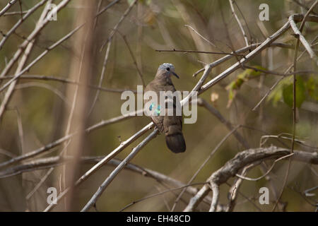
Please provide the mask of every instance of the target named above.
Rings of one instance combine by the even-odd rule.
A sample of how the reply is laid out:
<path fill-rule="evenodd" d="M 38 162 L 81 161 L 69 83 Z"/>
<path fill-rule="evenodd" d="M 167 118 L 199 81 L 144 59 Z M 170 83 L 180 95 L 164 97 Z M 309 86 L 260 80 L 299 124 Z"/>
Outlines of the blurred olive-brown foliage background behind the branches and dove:
<path fill-rule="evenodd" d="M 38 1 L 21 1 L 23 11 L 34 6 Z M 53 1 L 59 4 L 60 1 Z M 110 4 L 107 0 L 93 0 L 92 7 L 100 8 Z M 102 13 L 97 20 L 94 33 L 93 54 L 95 61 L 91 65 L 94 74 L 91 76 L 90 84 L 98 85 L 102 63 L 105 57 L 106 47 L 102 47 L 114 26 L 122 17 L 126 8 L 133 1 L 119 1 Z M 276 32 L 288 20 L 288 16 L 293 13 L 305 13 L 307 10 L 296 1 L 235 1 L 235 10 L 239 16 L 243 28 L 247 33 L 249 42 L 262 42 L 269 35 Z M 313 1 L 300 1 L 305 6 L 310 7 Z M 269 5 L 269 20 L 259 20 L 259 5 L 266 3 Z M 0 2 L 0 8 L 6 6 L 6 1 Z M 240 8 L 240 11 L 238 8 Z M 23 38 L 34 29 L 35 23 L 42 12 L 40 7 L 23 22 L 16 32 L 11 35 L 4 47 L 0 50 L 0 70 L 4 69 L 8 59 L 11 59 L 16 52 L 18 45 L 23 42 Z M 318 12 L 318 8 L 314 9 Z M 20 11 L 19 4 L 11 7 L 10 11 Z M 57 15 L 57 21 L 51 21 L 40 32 L 35 42 L 35 47 L 28 59 L 29 64 L 35 57 L 41 54 L 49 45 L 57 42 L 76 26 L 76 21 L 81 17 L 83 6 L 81 1 L 71 1 Z M 244 16 L 244 20 L 243 17 Z M 0 31 L 5 34 L 20 19 L 20 14 L 5 15 L 0 18 Z M 206 42 L 193 30 L 185 25 L 191 25 L 203 37 L 212 42 Z M 318 25 L 306 23 L 305 37 L 309 42 L 314 40 Z M 87 29 L 84 26 L 81 29 Z M 187 49 L 206 52 L 232 52 L 233 49 L 245 47 L 237 21 L 232 16 L 228 1 L 216 0 L 144 0 L 138 1 L 123 23 L 118 28 L 119 32 L 125 35 L 129 47 L 136 58 L 137 65 L 141 70 L 143 79 L 149 83 L 155 76 L 155 72 L 160 64 L 169 62 L 175 65 L 175 71 L 180 79 L 173 79 L 177 90 L 192 90 L 199 81 L 201 74 L 192 77 L 192 74 L 202 67 L 204 63 L 216 61 L 223 55 L 182 53 L 182 52 L 156 52 L 155 49 Z M 29 75 L 56 76 L 69 78 L 71 60 L 79 58 L 73 51 L 72 43 L 78 33 L 75 33 L 69 40 L 66 40 L 59 47 L 50 51 L 27 73 Z M 293 31 L 288 30 L 278 39 L 278 42 L 295 44 Z M 317 42 L 317 40 L 316 40 Z M 314 42 L 315 43 L 315 42 Z M 300 44 L 300 52 L 303 47 Z M 300 53 L 299 52 L 299 53 Z M 255 57 L 248 65 L 258 66 L 261 69 L 273 70 L 283 73 L 285 69 L 293 64 L 293 49 L 272 47 L 264 50 Z M 213 68 L 207 80 L 217 76 L 237 61 L 235 57 Z M 15 65 L 16 67 L 16 65 Z M 15 67 L 8 75 L 13 75 Z M 317 71 L 307 53 L 298 61 L 298 70 Z M 261 136 L 278 135 L 280 133 L 293 132 L 293 112 L 290 107 L 290 84 L 292 77 L 285 78 L 271 95 L 262 102 L 256 111 L 252 111 L 261 97 L 280 78 L 264 73 L 254 73 L 239 69 L 225 78 L 218 85 L 207 90 L 200 95 L 201 98 L 213 105 L 220 114 L 228 119 L 231 124 L 242 126 L 238 131 L 247 140 L 250 147 L 257 148 L 260 145 Z M 240 83 L 237 83 L 240 81 Z M 298 124 L 296 135 L 310 147 L 318 145 L 318 103 L 317 103 L 317 74 L 305 74 L 299 77 L 300 97 L 298 100 Z M 24 86 L 21 86 L 23 85 Z M 43 86 L 45 84 L 45 86 Z M 120 88 L 136 90 L 136 85 L 141 85 L 141 79 L 137 73 L 134 61 L 131 58 L 123 38 L 115 32 L 110 57 L 107 62 L 105 78 L 102 87 Z M 1 83 L 1 86 L 4 82 Z M 20 88 L 19 88 L 20 85 Z M 51 143 L 64 136 L 64 121 L 69 114 L 71 100 L 66 98 L 66 83 L 44 80 L 20 79 L 13 96 L 8 102 L 6 112 L 0 124 L 0 148 L 12 155 L 28 153 L 28 151 Z M 227 88 L 226 88 L 227 87 Z M 56 92 L 53 92 L 55 90 Z M 90 89 L 90 98 L 93 100 L 96 90 Z M 59 95 L 57 95 L 57 93 Z M 213 102 L 211 95 L 213 94 Z M 217 97 L 217 98 L 215 98 Z M 0 100 L 3 100 L 4 92 L 0 93 Z M 216 100 L 215 100 L 216 99 Z M 93 108 L 92 114 L 88 117 L 88 125 L 98 123 L 102 119 L 110 119 L 121 114 L 120 107 L 124 100 L 120 99 L 120 93 L 110 93 L 101 91 L 98 101 Z M 104 156 L 116 148 L 121 141 L 126 140 L 132 134 L 139 131 L 151 120 L 148 117 L 134 117 L 102 127 L 87 135 L 87 143 L 84 155 Z M 20 126 L 19 126 L 20 124 Z M 19 131 L 20 130 L 20 131 Z M 23 133 L 21 133 L 23 131 Z M 186 183 L 196 172 L 196 169 L 208 157 L 211 150 L 216 147 L 220 140 L 228 133 L 228 129 L 216 117 L 203 107 L 198 107 L 198 120 L 195 124 L 184 124 L 183 133 L 187 143 L 187 151 L 182 154 L 174 154 L 167 149 L 163 135 L 148 143 L 137 155 L 132 163 L 148 169 L 166 174 L 169 177 Z M 147 133 L 148 134 L 148 133 Z M 145 138 L 143 135 L 142 138 Z M 141 140 L 139 138 L 131 143 L 117 157 L 124 158 L 131 148 L 134 148 Z M 288 147 L 290 141 L 283 141 Z M 264 146 L 282 146 L 278 139 L 269 138 Z M 52 148 L 46 155 L 55 156 L 61 151 L 63 145 Z M 212 172 L 222 167 L 226 161 L 235 156 L 236 153 L 245 148 L 230 136 L 228 140 L 220 146 L 216 155 L 213 155 L 208 165 L 199 173 L 194 182 L 204 182 Z M 295 145 L 295 150 L 317 151 L 317 148 L 308 148 L 303 145 Z M 1 162 L 8 160 L 6 155 L 0 155 Z M 81 166 L 80 174 L 86 172 L 93 165 Z M 0 179 L 0 210 L 1 211 L 41 211 L 47 206 L 47 188 L 54 186 L 59 188 L 61 167 L 56 170 L 45 181 L 40 189 L 29 199 L 25 196 L 34 188 L 40 179 L 46 174 L 47 169 L 34 172 L 26 172 L 23 175 L 16 175 Z M 81 210 L 88 199 L 95 193 L 98 186 L 110 174 L 113 167 L 102 167 L 93 177 L 76 189 L 74 198 L 76 208 Z M 276 188 L 281 189 L 283 177 L 287 169 L 287 161 L 279 162 L 270 174 Z M 248 177 L 261 176 L 261 170 L 256 167 L 249 172 Z M 233 179 L 228 183 L 232 184 Z M 302 191 L 317 186 L 317 166 L 305 163 L 293 162 L 290 169 L 288 186 L 286 187 L 281 200 L 286 204 L 285 210 L 289 211 L 312 211 L 316 208 L 311 206 L 303 197 Z M 261 210 L 271 210 L 275 201 L 270 196 L 271 205 L 261 206 L 258 203 L 259 188 L 269 186 L 266 179 L 257 182 L 245 181 L 240 192 L 249 197 Z M 167 189 L 155 180 L 143 177 L 140 174 L 124 170 L 119 174 L 114 182 L 100 197 L 97 209 L 100 211 L 118 211 L 127 204 L 144 196 L 157 193 Z M 220 203 L 228 203 L 228 185 L 220 187 Z M 178 194 L 175 192 L 175 194 Z M 164 196 L 149 198 L 146 201 L 137 203 L 128 210 L 132 211 L 164 211 L 171 208 L 175 201 L 174 193 L 167 193 Z M 316 192 L 317 195 L 317 192 Z M 190 196 L 185 194 L 183 201 L 179 201 L 175 210 L 183 210 Z M 317 196 L 316 196 L 317 199 Z M 209 206 L 201 203 L 198 210 L 206 211 Z M 59 205 L 55 210 L 64 210 L 63 205 Z M 235 211 L 258 211 L 255 206 L 247 201 L 243 196 L 239 196 Z"/>

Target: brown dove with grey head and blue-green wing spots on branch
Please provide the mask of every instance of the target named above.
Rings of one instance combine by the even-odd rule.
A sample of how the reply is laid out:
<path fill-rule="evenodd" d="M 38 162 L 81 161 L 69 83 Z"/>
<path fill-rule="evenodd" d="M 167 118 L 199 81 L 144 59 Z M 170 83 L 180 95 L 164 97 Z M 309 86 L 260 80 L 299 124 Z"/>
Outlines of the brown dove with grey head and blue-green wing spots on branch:
<path fill-rule="evenodd" d="M 179 78 L 175 73 L 175 66 L 167 63 L 161 64 L 153 81 L 146 86 L 145 93 L 149 90 L 154 91 L 158 96 L 158 102 L 160 102 L 160 91 L 172 91 L 172 93 L 174 93 L 175 86 L 171 81 L 172 75 Z M 172 150 L 173 153 L 183 153 L 186 150 L 186 144 L 182 135 L 182 115 L 177 116 L 177 114 L 175 114 L 175 108 L 179 102 L 176 103 L 175 99 L 172 101 L 174 108 L 172 116 L 168 116 L 168 114 L 160 116 L 160 105 L 152 103 L 150 110 L 152 110 L 152 107 L 156 106 L 155 111 L 158 114 L 151 115 L 151 119 L 160 133 L 165 134 L 165 143 L 167 143 L 167 147 Z M 144 100 L 144 102 L 146 103 L 148 100 Z M 165 100 L 165 105 L 167 106 L 167 100 Z M 165 109 L 167 112 L 167 107 Z"/>

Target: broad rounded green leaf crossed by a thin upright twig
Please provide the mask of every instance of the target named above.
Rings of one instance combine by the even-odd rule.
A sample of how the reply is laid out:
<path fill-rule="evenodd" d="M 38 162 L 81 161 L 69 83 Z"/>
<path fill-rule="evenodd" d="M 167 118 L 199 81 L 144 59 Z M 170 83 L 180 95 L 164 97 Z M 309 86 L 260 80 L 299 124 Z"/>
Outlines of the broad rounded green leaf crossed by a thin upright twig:
<path fill-rule="evenodd" d="M 296 107 L 300 107 L 306 98 L 306 88 L 302 77 L 297 76 L 296 79 Z M 284 85 L 283 100 L 286 105 L 293 107 L 293 83 Z"/>

